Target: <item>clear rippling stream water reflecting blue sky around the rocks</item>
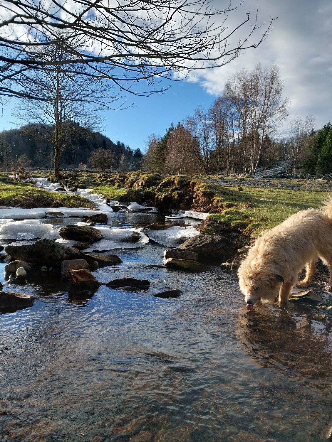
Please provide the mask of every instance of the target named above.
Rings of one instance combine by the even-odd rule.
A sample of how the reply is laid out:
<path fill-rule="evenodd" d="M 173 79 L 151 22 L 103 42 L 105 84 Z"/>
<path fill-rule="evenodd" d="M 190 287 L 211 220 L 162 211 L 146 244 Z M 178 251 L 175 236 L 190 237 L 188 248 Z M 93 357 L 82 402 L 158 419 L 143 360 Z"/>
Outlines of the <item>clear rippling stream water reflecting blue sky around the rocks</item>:
<path fill-rule="evenodd" d="M 112 215 L 113 226 L 153 221 L 162 216 Z M 69 284 L 50 273 L 11 286 L 38 300 L 0 315 L 1 441 L 327 440 L 328 311 L 324 321 L 303 304 L 248 312 L 236 276 L 219 267 L 147 267 L 164 249 L 116 250 L 124 263 L 94 272 L 100 282 L 148 278 L 145 292 L 101 286 L 73 301 Z M 153 297 L 173 288 L 181 297 Z"/>

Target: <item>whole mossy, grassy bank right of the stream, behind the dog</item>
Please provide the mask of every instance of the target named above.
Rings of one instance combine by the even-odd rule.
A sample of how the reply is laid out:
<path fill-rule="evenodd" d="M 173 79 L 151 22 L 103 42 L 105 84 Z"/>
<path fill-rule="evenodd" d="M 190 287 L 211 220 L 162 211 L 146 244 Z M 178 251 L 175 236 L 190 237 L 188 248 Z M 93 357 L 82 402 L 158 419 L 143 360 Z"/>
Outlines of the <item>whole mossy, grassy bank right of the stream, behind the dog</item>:
<path fill-rule="evenodd" d="M 328 189 L 322 188 L 321 180 L 317 181 L 315 190 L 307 191 L 287 188 L 297 184 L 301 187 L 303 180 L 299 183 L 284 180 L 282 186 L 285 188 L 276 187 L 281 184 L 280 180 L 271 180 L 270 187 L 266 188 L 257 179 L 232 177 L 234 183 L 220 185 L 211 178 L 142 171 L 115 174 L 72 172 L 68 173 L 66 181 L 78 187 L 92 187 L 94 193 L 110 200 L 135 201 L 160 209 L 209 212 L 210 216 L 201 224 L 202 232 L 226 235 L 236 232 L 248 238 L 255 238 L 262 230 L 274 227 L 298 210 L 320 207 L 329 193 Z M 324 186 L 330 187 L 329 183 Z M 61 205 L 66 204 L 61 202 Z"/>

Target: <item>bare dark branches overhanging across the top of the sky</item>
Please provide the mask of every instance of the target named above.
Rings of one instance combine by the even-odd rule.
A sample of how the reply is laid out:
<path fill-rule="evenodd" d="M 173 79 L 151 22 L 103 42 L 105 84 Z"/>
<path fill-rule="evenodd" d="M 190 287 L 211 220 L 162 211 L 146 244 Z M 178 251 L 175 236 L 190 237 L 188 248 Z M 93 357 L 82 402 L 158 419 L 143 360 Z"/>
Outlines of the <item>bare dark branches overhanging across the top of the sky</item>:
<path fill-rule="evenodd" d="M 273 19 L 262 28 L 257 11 L 252 24 L 247 12 L 233 28 L 227 26 L 228 15 L 243 1 L 215 10 L 208 0 L 2 0 L 0 94 L 39 100 L 22 80 L 30 70 L 65 65 L 72 72 L 89 66 L 86 75 L 107 78 L 125 92 L 158 92 L 164 88 L 158 79 L 225 65 L 266 38 Z M 40 58 L 52 41 L 66 54 L 63 59 Z M 138 89 L 141 80 L 146 87 Z"/>

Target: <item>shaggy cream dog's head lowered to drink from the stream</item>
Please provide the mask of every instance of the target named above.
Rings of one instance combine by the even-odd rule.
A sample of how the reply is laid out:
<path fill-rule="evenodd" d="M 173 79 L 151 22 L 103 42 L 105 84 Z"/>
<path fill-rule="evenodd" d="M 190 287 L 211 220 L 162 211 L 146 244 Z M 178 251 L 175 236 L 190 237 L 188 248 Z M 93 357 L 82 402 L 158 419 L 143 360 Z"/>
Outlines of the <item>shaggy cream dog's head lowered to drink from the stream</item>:
<path fill-rule="evenodd" d="M 255 271 L 241 266 L 238 276 L 240 290 L 245 296 L 248 308 L 256 304 L 259 299 L 263 302 L 274 302 L 281 284 L 284 283 L 280 274 L 267 269 Z"/>

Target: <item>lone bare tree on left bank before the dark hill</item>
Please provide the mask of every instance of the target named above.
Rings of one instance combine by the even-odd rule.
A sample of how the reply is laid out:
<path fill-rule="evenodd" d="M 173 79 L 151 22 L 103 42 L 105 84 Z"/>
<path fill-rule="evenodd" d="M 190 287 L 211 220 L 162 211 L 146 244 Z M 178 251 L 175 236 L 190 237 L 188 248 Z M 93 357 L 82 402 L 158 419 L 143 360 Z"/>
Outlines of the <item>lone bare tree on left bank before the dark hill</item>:
<path fill-rule="evenodd" d="M 42 60 L 63 60 L 64 51 L 55 44 Z M 67 69 L 68 67 L 68 69 Z M 60 162 L 64 150 L 79 133 L 97 129 L 98 112 L 112 102 L 105 92 L 105 83 L 87 75 L 89 68 L 55 65 L 48 70 L 36 69 L 23 80 L 27 95 L 39 100 L 24 99 L 14 110 L 14 116 L 28 123 L 27 130 L 54 149 L 54 175 L 61 179 Z M 108 97 L 105 99 L 105 96 Z M 29 135 L 29 133 L 27 133 Z"/>

